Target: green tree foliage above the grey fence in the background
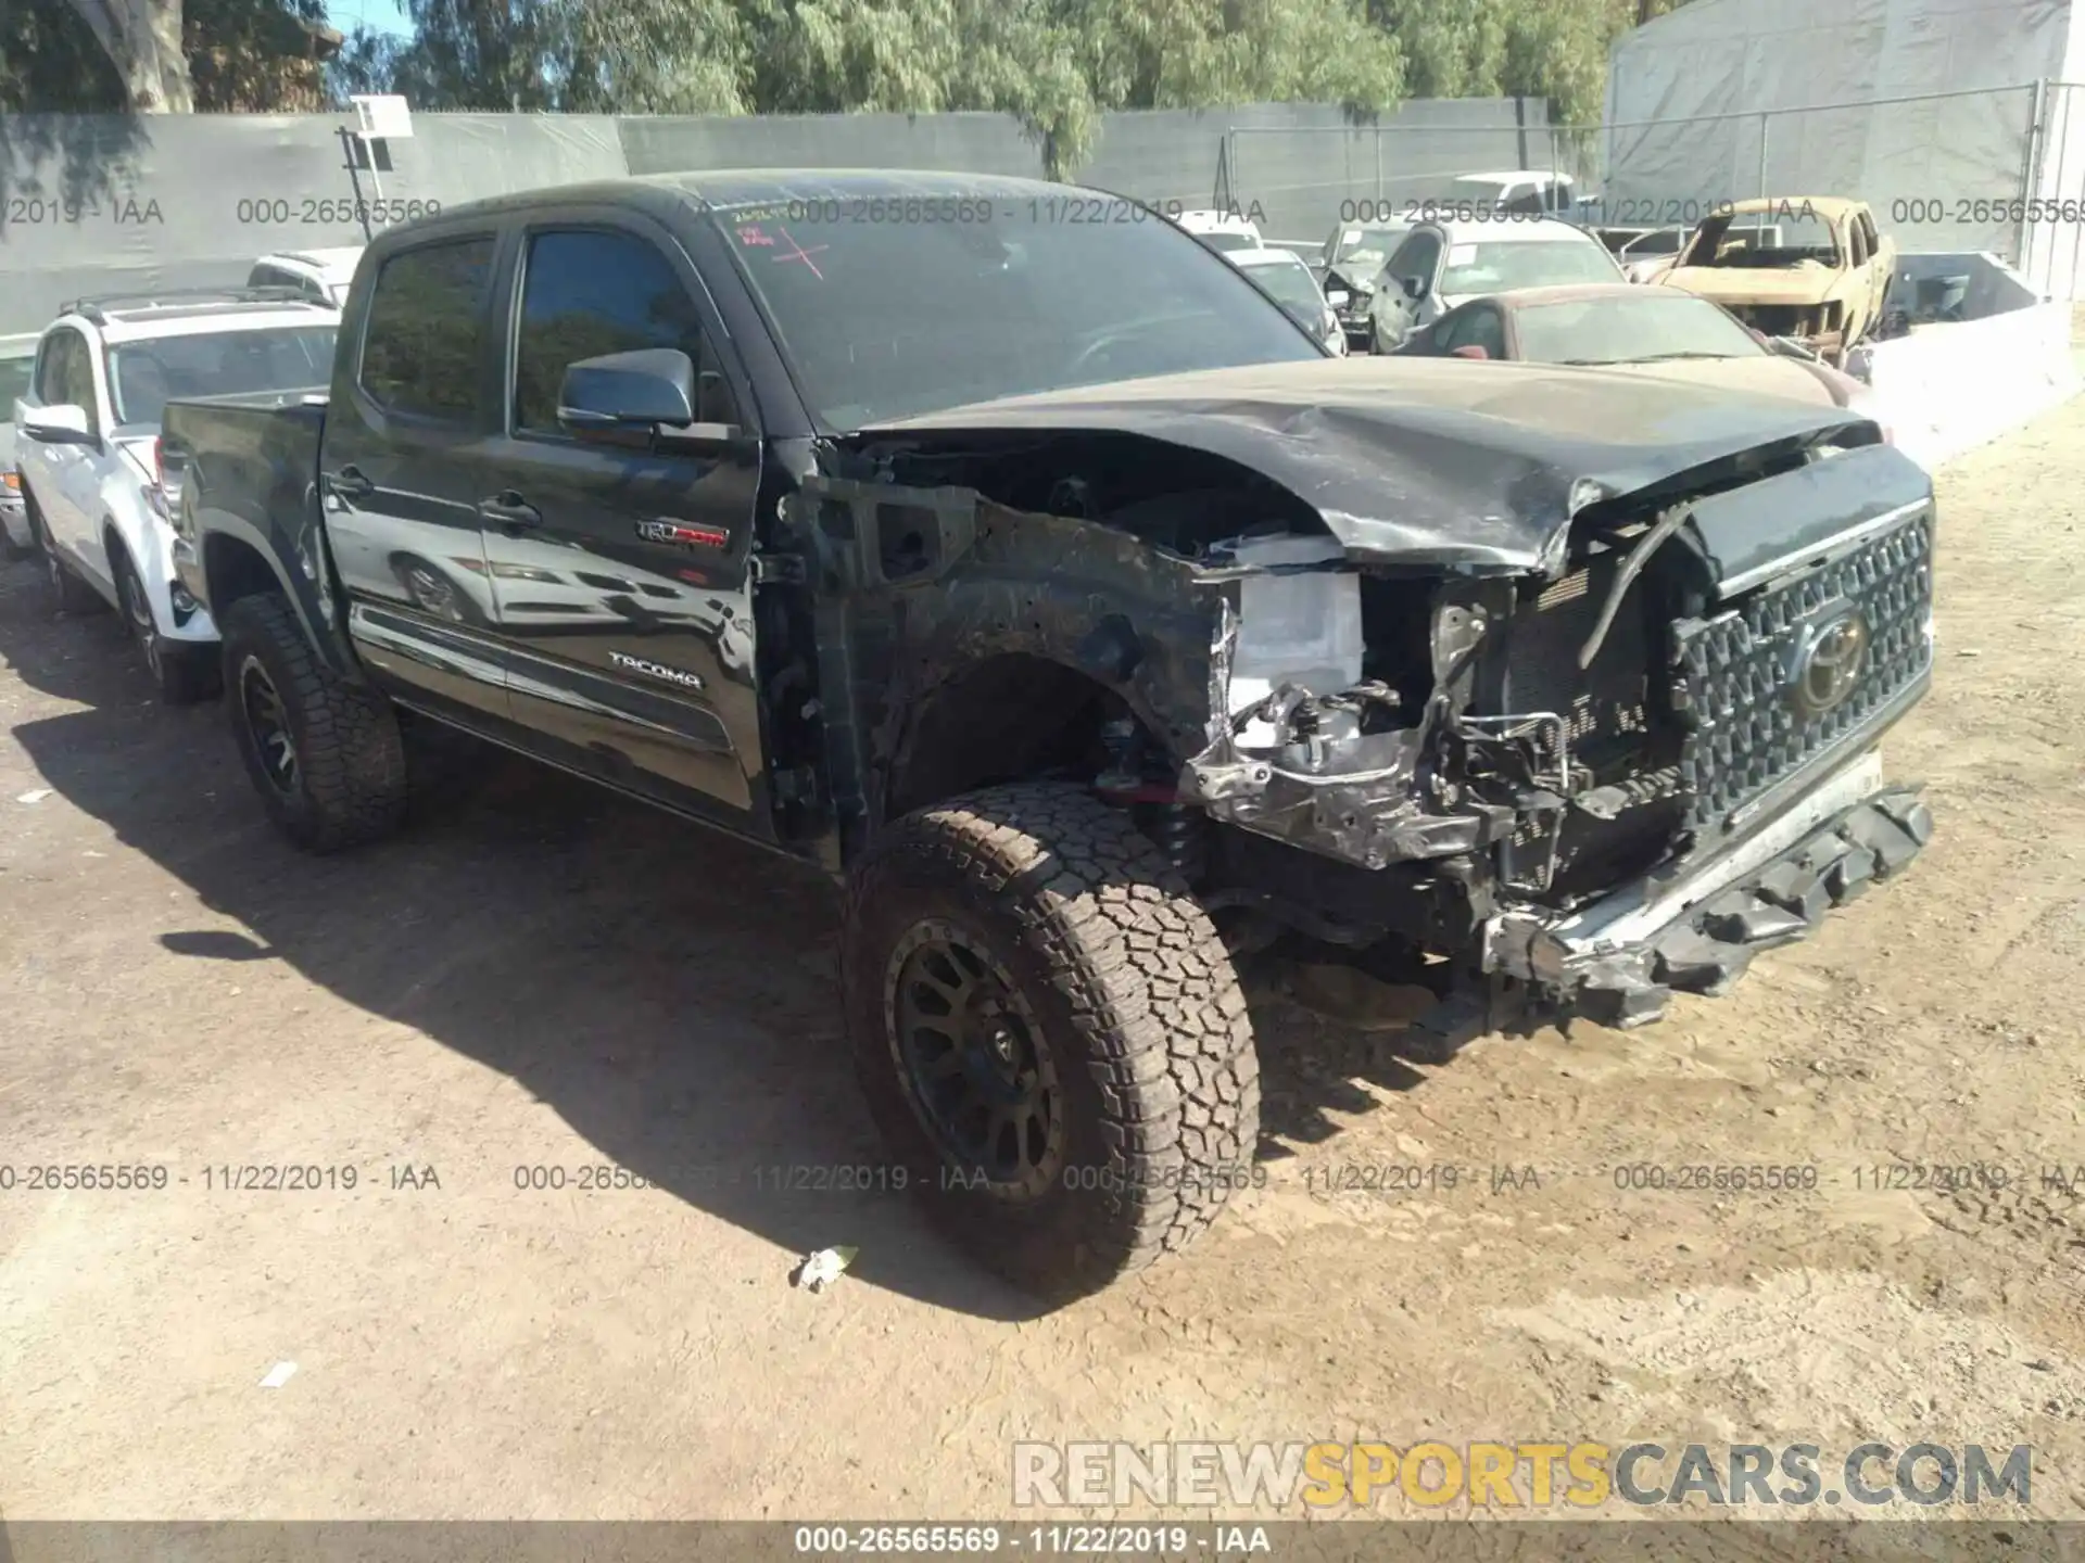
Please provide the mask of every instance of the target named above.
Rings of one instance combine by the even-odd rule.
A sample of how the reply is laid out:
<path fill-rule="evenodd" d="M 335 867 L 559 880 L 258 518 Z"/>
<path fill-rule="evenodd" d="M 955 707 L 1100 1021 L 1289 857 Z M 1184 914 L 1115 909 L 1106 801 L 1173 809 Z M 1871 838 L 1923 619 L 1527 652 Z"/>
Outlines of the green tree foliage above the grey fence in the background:
<path fill-rule="evenodd" d="M 1113 108 L 1547 98 L 1597 123 L 1608 48 L 1687 0 L 407 0 L 329 85 L 419 108 L 659 115 L 1011 113 L 1053 169 Z M 252 50 L 323 0 L 186 0 L 190 58 Z M 0 110 L 117 108 L 65 0 L 0 0 Z"/>

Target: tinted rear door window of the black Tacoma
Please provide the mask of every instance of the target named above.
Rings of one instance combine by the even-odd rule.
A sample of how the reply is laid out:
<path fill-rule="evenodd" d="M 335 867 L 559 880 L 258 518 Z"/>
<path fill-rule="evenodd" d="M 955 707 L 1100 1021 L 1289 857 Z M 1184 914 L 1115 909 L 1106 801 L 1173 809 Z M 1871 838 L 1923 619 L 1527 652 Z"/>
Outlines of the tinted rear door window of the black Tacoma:
<path fill-rule="evenodd" d="M 377 273 L 361 388 L 394 413 L 471 423 L 484 386 L 492 240 L 400 250 Z"/>

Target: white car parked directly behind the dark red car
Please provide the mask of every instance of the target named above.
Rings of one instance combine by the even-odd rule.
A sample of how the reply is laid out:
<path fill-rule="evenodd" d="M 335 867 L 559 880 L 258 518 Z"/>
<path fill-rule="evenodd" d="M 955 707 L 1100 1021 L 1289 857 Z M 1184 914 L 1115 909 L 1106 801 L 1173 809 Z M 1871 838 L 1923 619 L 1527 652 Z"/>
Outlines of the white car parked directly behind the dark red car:
<path fill-rule="evenodd" d="M 1368 300 L 1368 346 L 1393 352 L 1407 336 L 1482 294 L 1628 281 L 1593 233 L 1557 217 L 1476 217 L 1418 223 L 1382 263 Z"/>

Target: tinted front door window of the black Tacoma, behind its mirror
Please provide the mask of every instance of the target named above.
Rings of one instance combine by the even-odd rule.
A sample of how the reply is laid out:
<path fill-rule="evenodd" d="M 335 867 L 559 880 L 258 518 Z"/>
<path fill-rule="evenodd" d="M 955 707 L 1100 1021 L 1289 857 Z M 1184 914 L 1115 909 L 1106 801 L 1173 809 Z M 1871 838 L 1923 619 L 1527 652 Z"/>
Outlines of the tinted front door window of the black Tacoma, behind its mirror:
<path fill-rule="evenodd" d="M 688 354 L 696 423 L 740 421 L 694 298 L 659 246 L 609 229 L 536 233 L 521 281 L 515 431 L 565 438 L 557 421 L 565 369 L 582 358 L 642 348 Z"/>

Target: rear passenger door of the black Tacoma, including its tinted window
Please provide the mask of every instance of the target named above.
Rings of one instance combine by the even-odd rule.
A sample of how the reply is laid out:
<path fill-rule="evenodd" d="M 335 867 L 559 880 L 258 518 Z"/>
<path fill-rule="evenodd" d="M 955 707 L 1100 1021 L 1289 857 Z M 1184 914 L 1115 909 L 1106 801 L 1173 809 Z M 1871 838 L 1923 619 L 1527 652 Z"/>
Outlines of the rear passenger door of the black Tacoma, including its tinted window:
<path fill-rule="evenodd" d="M 486 231 L 386 256 L 319 452 L 354 648 L 407 702 L 473 723 L 507 717 L 477 515 L 498 421 L 494 250 Z"/>

